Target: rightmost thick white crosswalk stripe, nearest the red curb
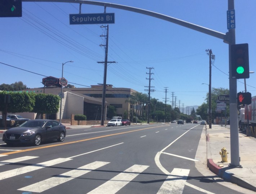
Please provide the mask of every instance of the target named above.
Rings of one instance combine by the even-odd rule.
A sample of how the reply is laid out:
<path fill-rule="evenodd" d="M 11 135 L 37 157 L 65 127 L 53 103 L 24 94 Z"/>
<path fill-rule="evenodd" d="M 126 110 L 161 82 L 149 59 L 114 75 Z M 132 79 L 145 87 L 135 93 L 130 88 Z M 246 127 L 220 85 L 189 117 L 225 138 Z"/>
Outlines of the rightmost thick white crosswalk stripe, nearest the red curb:
<path fill-rule="evenodd" d="M 189 171 L 189 169 L 174 168 L 171 175 L 167 176 L 162 184 L 158 194 L 182 194 Z"/>

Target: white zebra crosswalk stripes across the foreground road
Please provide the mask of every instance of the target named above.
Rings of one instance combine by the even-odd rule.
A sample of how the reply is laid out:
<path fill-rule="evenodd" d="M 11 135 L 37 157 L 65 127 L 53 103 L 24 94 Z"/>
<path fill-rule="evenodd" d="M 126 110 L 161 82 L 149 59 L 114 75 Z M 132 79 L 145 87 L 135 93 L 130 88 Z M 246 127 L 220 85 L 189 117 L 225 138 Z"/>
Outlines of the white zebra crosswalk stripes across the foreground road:
<path fill-rule="evenodd" d="M 31 175 L 31 173 L 33 173 L 34 171 L 43 169 L 45 167 L 52 167 L 54 165 L 73 160 L 71 158 L 57 158 L 57 159 L 52 159 L 52 160 L 37 163 L 37 164 L 31 164 L 31 165 L 25 164 L 25 166 L 19 167 L 19 168 L 17 168 L 18 165 L 15 165 L 16 163 L 28 161 L 35 158 L 39 158 L 39 157 L 24 156 L 24 157 L 0 161 L 0 171 L 2 171 L 0 172 L 0 187 L 3 186 L 1 184 L 1 181 L 4 181 L 5 179 L 9 179 L 11 177 L 19 176 L 19 175 L 25 176 L 27 175 L 27 173 L 28 175 Z M 13 166 L 14 169 L 3 171 L 5 170 L 4 165 L 8 165 L 8 164 L 14 164 L 14 165 L 10 165 L 10 166 Z M 78 177 L 81 177 L 87 173 L 91 173 L 92 171 L 95 172 L 95 170 L 99 168 L 106 166 L 106 169 L 108 169 L 107 165 L 109 164 L 110 162 L 94 161 L 91 163 L 87 163 L 83 166 L 80 166 L 78 168 L 74 168 L 74 169 L 72 168 L 72 170 L 70 168 L 66 168 L 66 172 L 64 173 L 60 173 L 59 175 L 54 175 L 54 176 L 44 175 L 42 176 L 42 179 L 44 180 L 40 180 L 32 184 L 30 182 L 28 183 L 28 185 L 23 185 L 22 187 L 18 186 L 18 188 L 15 188 L 15 190 L 22 193 L 42 193 L 44 191 L 49 191 L 49 189 L 57 187 L 58 185 L 64 184 Z M 149 167 L 150 166 L 134 164 L 131 167 L 127 168 L 126 170 L 122 172 L 120 171 L 117 175 L 110 178 L 109 180 L 106 180 L 100 186 L 97 186 L 91 191 L 87 191 L 87 193 L 89 194 L 117 193 L 122 188 L 124 188 L 124 186 L 126 186 L 127 184 L 132 182 L 134 179 L 136 179 L 137 176 L 141 175 L 141 173 L 147 170 Z M 171 193 L 181 194 L 185 186 L 188 175 L 189 175 L 189 170 L 174 168 L 173 171 L 171 172 L 171 175 L 166 176 L 165 181 L 163 180 L 162 186 L 158 189 L 158 192 L 156 191 L 156 193 L 164 194 L 164 193 L 170 193 L 171 191 Z M 24 184 L 27 184 L 27 183 L 25 182 Z"/>

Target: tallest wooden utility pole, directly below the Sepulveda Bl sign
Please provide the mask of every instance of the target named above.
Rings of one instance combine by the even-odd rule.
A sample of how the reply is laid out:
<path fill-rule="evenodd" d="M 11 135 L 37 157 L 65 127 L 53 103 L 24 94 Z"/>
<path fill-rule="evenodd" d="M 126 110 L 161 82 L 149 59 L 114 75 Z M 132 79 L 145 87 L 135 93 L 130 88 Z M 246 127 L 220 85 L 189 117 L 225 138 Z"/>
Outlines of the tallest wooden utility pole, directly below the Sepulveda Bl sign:
<path fill-rule="evenodd" d="M 101 26 L 101 28 L 106 28 L 107 35 L 100 35 L 100 37 L 105 37 L 106 44 L 100 45 L 105 47 L 105 61 L 104 62 L 97 62 L 97 63 L 104 63 L 104 77 L 103 77 L 103 89 L 102 89 L 102 106 L 101 106 L 101 125 L 104 125 L 105 121 L 105 96 L 106 96 L 106 80 L 107 80 L 107 63 L 115 63 L 115 61 L 107 61 L 107 50 L 109 44 L 109 25 Z"/>

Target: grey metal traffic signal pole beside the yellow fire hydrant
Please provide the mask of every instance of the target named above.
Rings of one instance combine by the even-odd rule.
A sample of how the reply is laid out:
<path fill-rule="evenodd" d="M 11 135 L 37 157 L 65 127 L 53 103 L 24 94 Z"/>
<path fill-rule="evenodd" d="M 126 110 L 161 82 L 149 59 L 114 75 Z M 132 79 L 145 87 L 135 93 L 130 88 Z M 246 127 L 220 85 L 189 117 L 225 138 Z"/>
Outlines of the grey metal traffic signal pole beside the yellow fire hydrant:
<path fill-rule="evenodd" d="M 234 0 L 228 0 L 228 10 L 234 9 Z M 239 133 L 237 113 L 237 80 L 231 73 L 231 45 L 235 44 L 235 29 L 229 29 L 229 103 L 230 103 L 230 165 L 239 167 Z"/>

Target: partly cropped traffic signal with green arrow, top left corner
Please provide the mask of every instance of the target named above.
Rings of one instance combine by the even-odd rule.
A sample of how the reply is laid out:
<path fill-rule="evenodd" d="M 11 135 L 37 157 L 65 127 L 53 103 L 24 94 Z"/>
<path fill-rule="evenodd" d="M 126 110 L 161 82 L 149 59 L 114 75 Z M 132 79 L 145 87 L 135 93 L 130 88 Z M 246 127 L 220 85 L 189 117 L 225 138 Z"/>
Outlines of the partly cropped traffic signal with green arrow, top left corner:
<path fill-rule="evenodd" d="M 0 17 L 22 17 L 22 0 L 0 0 Z"/>

